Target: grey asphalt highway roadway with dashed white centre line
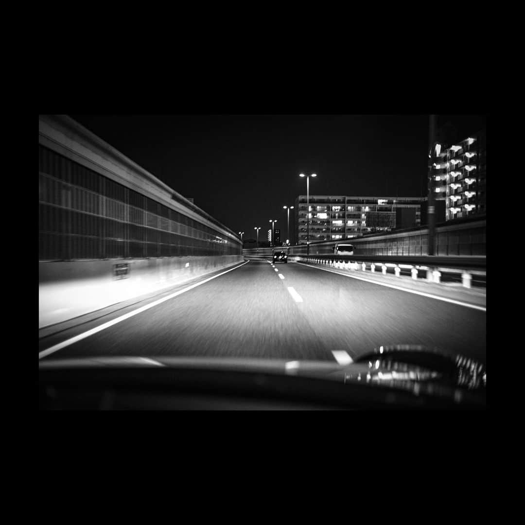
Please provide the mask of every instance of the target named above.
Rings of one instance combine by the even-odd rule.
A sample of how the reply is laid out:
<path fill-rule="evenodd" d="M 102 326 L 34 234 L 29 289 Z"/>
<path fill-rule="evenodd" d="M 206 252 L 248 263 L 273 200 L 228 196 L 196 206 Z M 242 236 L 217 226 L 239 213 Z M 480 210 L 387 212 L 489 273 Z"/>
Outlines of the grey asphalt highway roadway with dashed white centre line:
<path fill-rule="evenodd" d="M 423 344 L 485 361 L 485 320 L 485 312 L 317 268 L 252 260 L 50 356 L 334 361 L 333 351 L 355 358 L 381 344 Z"/>

